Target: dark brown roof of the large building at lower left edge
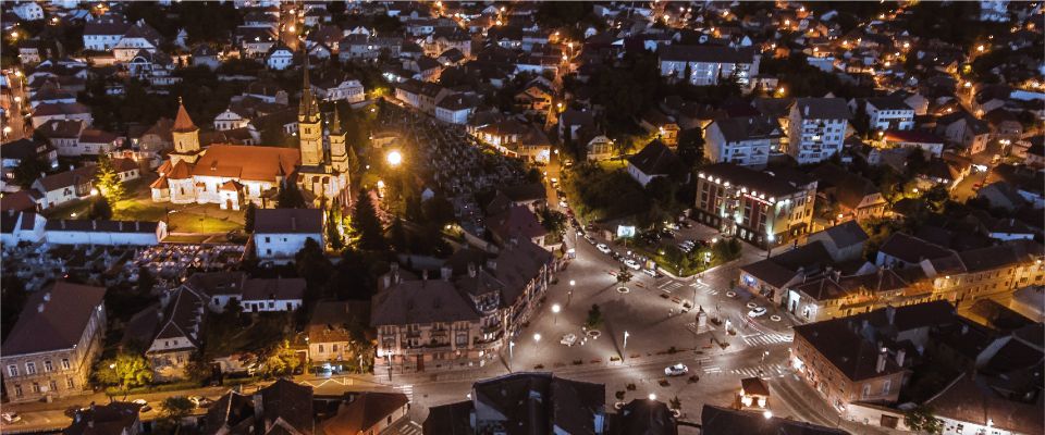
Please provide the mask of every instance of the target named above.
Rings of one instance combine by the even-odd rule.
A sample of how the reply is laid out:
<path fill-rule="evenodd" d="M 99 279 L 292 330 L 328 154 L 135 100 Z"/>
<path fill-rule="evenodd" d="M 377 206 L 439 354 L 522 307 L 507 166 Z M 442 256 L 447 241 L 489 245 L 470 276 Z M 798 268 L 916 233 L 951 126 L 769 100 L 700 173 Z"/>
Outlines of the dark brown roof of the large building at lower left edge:
<path fill-rule="evenodd" d="M 104 295 L 104 287 L 61 281 L 30 294 L 0 350 L 8 357 L 71 349 L 79 343 L 95 310 L 101 309 Z"/>

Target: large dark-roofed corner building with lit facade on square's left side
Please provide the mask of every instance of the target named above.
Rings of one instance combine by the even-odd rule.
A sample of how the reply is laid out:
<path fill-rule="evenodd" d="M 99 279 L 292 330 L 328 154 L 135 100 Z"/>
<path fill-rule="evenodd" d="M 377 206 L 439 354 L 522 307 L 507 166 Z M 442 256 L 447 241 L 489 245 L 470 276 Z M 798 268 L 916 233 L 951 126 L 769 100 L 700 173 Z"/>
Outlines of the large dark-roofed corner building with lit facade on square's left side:
<path fill-rule="evenodd" d="M 472 369 L 495 361 L 548 289 L 556 263 L 528 239 L 496 257 L 460 251 L 438 278 L 404 278 L 396 264 L 379 283 L 370 325 L 374 372 Z"/>

